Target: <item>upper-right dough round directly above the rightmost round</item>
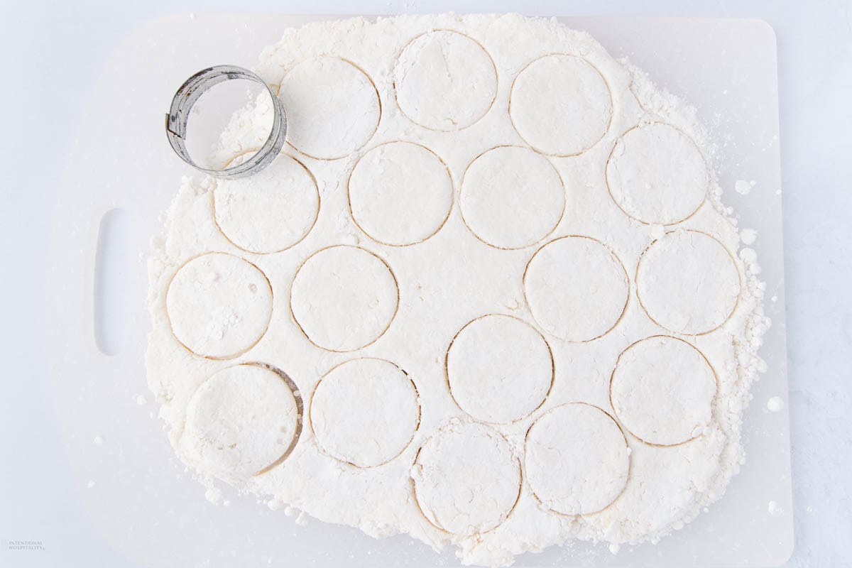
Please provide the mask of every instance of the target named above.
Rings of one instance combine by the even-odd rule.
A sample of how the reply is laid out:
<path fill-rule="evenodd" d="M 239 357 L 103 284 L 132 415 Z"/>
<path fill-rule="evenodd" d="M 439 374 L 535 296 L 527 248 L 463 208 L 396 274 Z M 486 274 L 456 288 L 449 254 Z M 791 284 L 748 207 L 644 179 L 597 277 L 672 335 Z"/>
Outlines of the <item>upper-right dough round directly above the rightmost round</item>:
<path fill-rule="evenodd" d="M 613 201 L 643 223 L 672 225 L 685 220 L 704 203 L 709 181 L 698 146 L 668 124 L 628 130 L 607 161 Z"/>

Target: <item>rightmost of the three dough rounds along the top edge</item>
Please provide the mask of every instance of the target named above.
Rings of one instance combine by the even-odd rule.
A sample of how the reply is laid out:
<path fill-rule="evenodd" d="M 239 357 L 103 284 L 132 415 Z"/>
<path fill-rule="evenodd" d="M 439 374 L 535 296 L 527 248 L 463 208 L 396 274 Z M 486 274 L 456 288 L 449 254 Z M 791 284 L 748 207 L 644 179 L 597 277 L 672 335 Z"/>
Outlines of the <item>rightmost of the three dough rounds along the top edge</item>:
<path fill-rule="evenodd" d="M 606 80 L 574 55 L 544 55 L 524 67 L 509 95 L 515 130 L 538 152 L 573 156 L 609 129 L 613 101 Z"/>

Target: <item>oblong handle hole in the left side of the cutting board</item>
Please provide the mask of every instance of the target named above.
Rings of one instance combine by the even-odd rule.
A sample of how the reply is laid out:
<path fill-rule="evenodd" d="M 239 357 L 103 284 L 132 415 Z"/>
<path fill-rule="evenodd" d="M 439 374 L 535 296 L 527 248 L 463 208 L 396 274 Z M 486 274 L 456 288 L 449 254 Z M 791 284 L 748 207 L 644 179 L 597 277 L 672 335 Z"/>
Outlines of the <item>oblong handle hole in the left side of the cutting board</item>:
<path fill-rule="evenodd" d="M 130 218 L 124 209 L 110 209 L 101 217 L 95 251 L 95 343 L 105 355 L 124 347 L 129 275 Z"/>

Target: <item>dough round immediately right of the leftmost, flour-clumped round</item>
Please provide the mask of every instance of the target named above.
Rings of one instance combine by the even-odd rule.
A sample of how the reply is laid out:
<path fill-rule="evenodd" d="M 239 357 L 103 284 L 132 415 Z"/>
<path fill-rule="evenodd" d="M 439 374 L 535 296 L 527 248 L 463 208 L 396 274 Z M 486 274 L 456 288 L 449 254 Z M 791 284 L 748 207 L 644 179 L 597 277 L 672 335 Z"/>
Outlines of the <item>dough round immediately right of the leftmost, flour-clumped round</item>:
<path fill-rule="evenodd" d="M 322 249 L 299 267 L 290 296 L 296 324 L 317 347 L 355 351 L 388 330 L 399 304 L 390 268 L 359 247 Z"/>

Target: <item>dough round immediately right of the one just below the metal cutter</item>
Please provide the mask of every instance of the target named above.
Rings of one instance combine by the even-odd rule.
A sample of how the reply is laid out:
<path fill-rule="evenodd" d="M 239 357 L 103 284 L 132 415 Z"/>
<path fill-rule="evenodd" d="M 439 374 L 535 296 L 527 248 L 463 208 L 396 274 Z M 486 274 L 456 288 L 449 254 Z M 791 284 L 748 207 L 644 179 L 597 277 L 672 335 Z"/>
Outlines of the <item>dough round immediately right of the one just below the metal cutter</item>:
<path fill-rule="evenodd" d="M 355 164 L 349 207 L 362 231 L 383 244 L 420 243 L 450 215 L 452 181 L 446 164 L 425 146 L 388 142 Z"/>

